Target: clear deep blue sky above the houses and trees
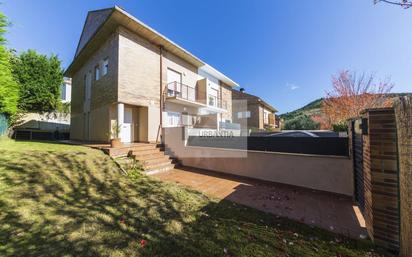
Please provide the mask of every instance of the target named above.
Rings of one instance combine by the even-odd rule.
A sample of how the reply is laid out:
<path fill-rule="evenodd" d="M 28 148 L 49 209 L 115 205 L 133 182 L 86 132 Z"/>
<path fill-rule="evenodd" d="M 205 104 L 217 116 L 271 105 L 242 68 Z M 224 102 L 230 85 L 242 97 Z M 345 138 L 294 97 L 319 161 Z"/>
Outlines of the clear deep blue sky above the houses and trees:
<path fill-rule="evenodd" d="M 412 9 L 372 0 L 2 0 L 9 46 L 67 67 L 89 10 L 119 5 L 270 102 L 280 113 L 322 97 L 340 70 L 412 92 Z"/>

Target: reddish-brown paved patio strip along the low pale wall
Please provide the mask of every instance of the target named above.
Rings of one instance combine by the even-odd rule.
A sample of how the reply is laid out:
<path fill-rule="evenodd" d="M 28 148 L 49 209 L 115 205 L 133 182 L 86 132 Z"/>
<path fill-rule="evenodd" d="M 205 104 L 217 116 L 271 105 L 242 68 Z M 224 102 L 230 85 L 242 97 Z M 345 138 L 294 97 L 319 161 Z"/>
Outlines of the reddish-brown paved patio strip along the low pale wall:
<path fill-rule="evenodd" d="M 352 238 L 367 234 L 350 197 L 186 167 L 152 176 Z"/>

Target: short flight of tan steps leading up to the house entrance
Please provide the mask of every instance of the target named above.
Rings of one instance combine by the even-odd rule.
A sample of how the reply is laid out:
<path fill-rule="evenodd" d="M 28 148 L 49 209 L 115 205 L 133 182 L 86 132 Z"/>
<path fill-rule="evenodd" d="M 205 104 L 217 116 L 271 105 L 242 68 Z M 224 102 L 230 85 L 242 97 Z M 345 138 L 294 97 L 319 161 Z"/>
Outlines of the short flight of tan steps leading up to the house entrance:
<path fill-rule="evenodd" d="M 165 154 L 163 146 L 156 144 L 134 145 L 128 156 L 137 161 L 148 174 L 171 170 L 177 164 Z"/>

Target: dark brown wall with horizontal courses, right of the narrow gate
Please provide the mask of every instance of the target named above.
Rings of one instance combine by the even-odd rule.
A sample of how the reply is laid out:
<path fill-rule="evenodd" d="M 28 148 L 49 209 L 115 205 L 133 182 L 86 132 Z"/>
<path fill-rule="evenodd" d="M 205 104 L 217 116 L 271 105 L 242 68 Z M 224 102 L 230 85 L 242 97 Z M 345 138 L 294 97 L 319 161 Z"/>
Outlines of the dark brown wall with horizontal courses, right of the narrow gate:
<path fill-rule="evenodd" d="M 363 135 L 364 216 L 374 242 L 399 250 L 399 182 L 396 121 L 393 109 L 369 110 Z"/>

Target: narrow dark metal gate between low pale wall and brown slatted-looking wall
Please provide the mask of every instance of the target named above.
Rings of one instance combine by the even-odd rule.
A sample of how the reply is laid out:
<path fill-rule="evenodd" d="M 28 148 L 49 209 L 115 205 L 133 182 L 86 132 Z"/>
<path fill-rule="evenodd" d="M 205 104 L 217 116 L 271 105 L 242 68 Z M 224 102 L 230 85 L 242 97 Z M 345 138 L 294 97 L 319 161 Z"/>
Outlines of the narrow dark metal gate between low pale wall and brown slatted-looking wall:
<path fill-rule="evenodd" d="M 363 171 L 363 140 L 362 140 L 362 119 L 352 122 L 352 142 L 353 142 L 353 170 L 355 181 L 355 200 L 362 213 L 365 210 L 365 184 Z"/>

